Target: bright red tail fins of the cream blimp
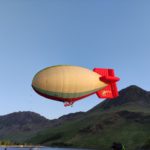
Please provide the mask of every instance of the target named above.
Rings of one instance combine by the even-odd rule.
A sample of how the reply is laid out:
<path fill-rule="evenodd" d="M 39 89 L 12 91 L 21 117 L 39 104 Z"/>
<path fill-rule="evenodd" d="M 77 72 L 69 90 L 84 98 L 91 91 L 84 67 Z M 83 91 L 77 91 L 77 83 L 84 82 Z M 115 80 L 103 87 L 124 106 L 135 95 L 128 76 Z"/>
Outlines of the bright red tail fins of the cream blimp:
<path fill-rule="evenodd" d="M 118 88 L 116 82 L 120 79 L 118 77 L 115 77 L 114 70 L 105 68 L 94 68 L 93 71 L 100 74 L 100 80 L 108 85 L 102 90 L 96 92 L 97 96 L 99 98 L 116 98 L 118 96 Z"/>

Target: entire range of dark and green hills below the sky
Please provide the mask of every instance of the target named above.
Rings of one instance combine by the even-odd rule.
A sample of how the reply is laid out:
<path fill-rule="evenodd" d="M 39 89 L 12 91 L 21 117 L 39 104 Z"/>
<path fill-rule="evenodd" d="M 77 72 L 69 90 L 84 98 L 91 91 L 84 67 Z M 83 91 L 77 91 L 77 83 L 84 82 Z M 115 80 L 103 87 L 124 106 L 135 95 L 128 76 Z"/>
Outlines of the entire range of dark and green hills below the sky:
<path fill-rule="evenodd" d="M 1 116 L 0 138 L 101 150 L 121 142 L 127 150 L 150 149 L 150 92 L 130 86 L 121 90 L 118 98 L 106 99 L 87 112 L 54 120 L 32 112 Z"/>

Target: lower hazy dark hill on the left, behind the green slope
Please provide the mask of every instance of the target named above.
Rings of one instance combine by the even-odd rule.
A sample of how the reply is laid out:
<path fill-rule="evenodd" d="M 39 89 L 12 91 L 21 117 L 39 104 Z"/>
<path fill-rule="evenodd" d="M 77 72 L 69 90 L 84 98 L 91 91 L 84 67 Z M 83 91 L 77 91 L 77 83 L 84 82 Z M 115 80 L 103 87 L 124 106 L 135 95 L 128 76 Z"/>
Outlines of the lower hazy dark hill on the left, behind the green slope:
<path fill-rule="evenodd" d="M 48 127 L 50 121 L 34 112 L 15 112 L 0 116 L 0 139 L 23 141 Z"/>

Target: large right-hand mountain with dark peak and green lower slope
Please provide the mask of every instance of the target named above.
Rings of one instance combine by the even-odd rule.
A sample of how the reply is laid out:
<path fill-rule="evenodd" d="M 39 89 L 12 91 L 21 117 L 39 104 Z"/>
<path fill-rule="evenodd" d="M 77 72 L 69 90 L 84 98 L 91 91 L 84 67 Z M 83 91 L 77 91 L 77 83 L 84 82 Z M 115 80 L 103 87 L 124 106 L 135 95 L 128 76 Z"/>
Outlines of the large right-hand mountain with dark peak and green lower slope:
<path fill-rule="evenodd" d="M 78 117 L 69 116 L 28 142 L 102 150 L 110 149 L 113 142 L 121 142 L 128 150 L 137 150 L 150 141 L 150 92 L 137 86 L 121 90 L 116 99 L 106 99 Z"/>

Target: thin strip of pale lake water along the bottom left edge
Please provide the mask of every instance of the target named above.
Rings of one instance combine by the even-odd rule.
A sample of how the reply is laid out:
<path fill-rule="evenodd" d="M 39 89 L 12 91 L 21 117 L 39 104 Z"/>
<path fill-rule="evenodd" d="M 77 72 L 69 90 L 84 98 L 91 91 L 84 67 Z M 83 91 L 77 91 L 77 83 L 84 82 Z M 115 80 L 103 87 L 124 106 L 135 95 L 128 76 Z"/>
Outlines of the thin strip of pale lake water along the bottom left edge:
<path fill-rule="evenodd" d="M 42 147 L 42 148 L 21 148 L 21 147 L 0 147 L 0 150 L 91 150 L 83 148 L 54 148 L 54 147 Z"/>

